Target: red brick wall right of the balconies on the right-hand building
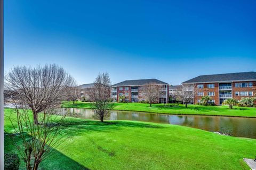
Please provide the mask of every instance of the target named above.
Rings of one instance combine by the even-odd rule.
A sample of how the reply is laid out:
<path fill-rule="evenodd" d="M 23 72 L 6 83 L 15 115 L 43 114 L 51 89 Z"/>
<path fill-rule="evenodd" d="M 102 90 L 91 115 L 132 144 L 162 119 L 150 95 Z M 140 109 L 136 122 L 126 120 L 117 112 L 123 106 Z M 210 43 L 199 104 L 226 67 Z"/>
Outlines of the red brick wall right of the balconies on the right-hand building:
<path fill-rule="evenodd" d="M 252 82 L 252 87 L 235 87 L 235 83 L 248 83 L 249 86 L 249 82 Z M 246 82 L 233 82 L 232 86 L 233 86 L 233 98 L 236 100 L 241 100 L 242 98 L 248 98 L 248 97 L 256 97 L 256 81 L 246 81 Z M 235 92 L 253 92 L 253 96 L 236 96 Z"/>

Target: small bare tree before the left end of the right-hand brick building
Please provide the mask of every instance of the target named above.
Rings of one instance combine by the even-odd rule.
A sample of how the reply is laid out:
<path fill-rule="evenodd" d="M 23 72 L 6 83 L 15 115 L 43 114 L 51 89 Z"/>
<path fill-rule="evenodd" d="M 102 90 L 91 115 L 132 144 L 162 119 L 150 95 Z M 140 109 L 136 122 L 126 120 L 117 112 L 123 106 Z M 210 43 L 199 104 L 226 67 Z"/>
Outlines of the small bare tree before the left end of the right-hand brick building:
<path fill-rule="evenodd" d="M 187 108 L 187 104 L 191 103 L 194 99 L 194 92 L 188 90 L 187 88 L 178 88 L 177 89 L 177 100 L 183 102 Z"/>

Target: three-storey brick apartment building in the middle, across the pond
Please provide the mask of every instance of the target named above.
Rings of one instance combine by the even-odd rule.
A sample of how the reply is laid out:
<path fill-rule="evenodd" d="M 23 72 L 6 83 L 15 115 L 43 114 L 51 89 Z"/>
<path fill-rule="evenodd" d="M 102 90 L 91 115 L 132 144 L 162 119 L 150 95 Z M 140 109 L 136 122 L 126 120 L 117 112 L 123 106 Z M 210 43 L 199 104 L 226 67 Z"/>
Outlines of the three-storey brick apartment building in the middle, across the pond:
<path fill-rule="evenodd" d="M 143 89 L 150 84 L 159 86 L 158 103 L 166 103 L 169 98 L 169 85 L 158 79 L 125 80 L 111 86 L 111 98 L 119 101 L 121 96 L 126 96 L 127 102 L 145 101 Z"/>

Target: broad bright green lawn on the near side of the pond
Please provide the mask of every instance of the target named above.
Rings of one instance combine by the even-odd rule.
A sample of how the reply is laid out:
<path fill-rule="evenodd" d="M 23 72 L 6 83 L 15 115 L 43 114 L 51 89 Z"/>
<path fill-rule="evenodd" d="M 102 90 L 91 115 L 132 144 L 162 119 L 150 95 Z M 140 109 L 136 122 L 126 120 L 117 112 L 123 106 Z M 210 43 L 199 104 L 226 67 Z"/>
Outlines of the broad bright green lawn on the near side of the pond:
<path fill-rule="evenodd" d="M 10 116 L 10 109 L 5 115 Z M 14 115 L 13 115 L 14 116 Z M 63 133 L 72 133 L 42 169 L 249 169 L 243 158 L 254 158 L 256 140 L 200 129 L 130 121 L 68 118 Z M 12 133 L 9 119 L 5 130 Z M 19 140 L 19 139 L 16 139 Z M 15 152 L 5 137 L 5 152 Z"/>

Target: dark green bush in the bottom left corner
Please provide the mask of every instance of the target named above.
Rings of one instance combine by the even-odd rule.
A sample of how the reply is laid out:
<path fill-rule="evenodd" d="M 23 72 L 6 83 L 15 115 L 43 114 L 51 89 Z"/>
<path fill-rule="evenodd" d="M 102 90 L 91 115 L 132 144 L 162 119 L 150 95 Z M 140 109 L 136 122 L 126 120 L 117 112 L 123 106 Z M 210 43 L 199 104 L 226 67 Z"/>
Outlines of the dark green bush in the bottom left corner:
<path fill-rule="evenodd" d="M 4 155 L 4 169 L 5 170 L 18 170 L 20 159 L 16 153 L 6 153 Z"/>

